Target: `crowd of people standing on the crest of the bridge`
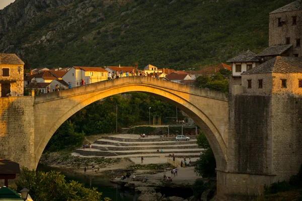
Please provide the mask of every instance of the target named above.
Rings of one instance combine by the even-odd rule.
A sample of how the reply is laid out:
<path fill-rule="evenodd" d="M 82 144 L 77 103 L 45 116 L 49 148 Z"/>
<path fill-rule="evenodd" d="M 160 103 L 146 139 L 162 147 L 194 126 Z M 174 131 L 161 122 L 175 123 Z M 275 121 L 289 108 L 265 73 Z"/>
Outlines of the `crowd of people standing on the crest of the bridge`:
<path fill-rule="evenodd" d="M 129 77 L 130 75 L 131 76 L 148 76 L 148 77 L 152 77 L 152 78 L 157 78 L 159 79 L 160 78 L 160 75 L 161 73 L 158 71 L 158 72 L 152 72 L 152 73 L 148 73 L 148 72 L 144 72 L 144 70 L 139 70 L 139 69 L 136 69 L 134 71 L 134 69 L 131 71 L 131 72 L 128 72 L 126 71 L 125 73 L 123 72 L 123 70 L 121 71 L 112 71 L 112 72 L 108 72 L 108 79 L 117 79 L 117 78 L 120 78 L 120 77 L 124 77 L 124 74 L 126 77 Z"/>

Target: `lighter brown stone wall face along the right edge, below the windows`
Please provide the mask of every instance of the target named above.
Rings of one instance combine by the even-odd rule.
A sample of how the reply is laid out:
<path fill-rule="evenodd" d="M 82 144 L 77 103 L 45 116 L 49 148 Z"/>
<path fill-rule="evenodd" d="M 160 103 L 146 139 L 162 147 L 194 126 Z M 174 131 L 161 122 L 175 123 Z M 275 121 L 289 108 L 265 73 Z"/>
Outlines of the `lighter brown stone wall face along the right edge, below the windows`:
<path fill-rule="evenodd" d="M 302 164 L 302 96 L 272 96 L 273 173 L 289 180 Z"/>

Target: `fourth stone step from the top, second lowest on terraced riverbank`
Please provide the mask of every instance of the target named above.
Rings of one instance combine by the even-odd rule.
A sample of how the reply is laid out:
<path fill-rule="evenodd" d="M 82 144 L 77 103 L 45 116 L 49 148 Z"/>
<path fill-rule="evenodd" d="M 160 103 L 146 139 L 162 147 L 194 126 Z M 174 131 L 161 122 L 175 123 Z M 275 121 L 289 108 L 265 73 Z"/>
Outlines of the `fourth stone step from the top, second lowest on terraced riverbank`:
<path fill-rule="evenodd" d="M 200 153 L 204 151 L 204 149 L 167 149 L 164 152 L 157 152 L 155 149 L 146 149 L 146 150 L 126 150 L 126 151 L 101 151 L 99 149 L 77 149 L 75 150 L 76 153 L 80 153 L 82 155 L 91 155 L 91 156 L 123 156 L 123 155 L 141 155 L 141 154 L 162 154 L 162 155 L 169 155 L 178 153 Z"/>

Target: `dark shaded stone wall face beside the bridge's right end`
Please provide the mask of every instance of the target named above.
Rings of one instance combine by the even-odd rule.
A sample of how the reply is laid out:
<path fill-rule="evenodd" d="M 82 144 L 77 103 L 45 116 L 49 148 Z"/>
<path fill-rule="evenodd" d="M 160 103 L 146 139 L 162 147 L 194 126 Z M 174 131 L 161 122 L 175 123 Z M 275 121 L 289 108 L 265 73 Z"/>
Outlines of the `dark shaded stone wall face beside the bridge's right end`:
<path fill-rule="evenodd" d="M 270 108 L 270 95 L 231 96 L 228 170 L 271 173 Z"/>

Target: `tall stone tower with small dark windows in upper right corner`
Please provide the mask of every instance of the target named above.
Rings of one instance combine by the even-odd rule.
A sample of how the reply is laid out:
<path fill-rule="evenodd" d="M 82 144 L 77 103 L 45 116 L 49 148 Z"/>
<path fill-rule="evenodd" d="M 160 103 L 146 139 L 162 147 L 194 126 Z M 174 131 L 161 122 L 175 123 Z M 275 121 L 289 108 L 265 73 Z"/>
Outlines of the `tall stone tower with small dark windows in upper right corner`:
<path fill-rule="evenodd" d="M 269 14 L 269 47 L 292 45 L 288 56 L 302 56 L 302 1 L 292 2 Z"/>

